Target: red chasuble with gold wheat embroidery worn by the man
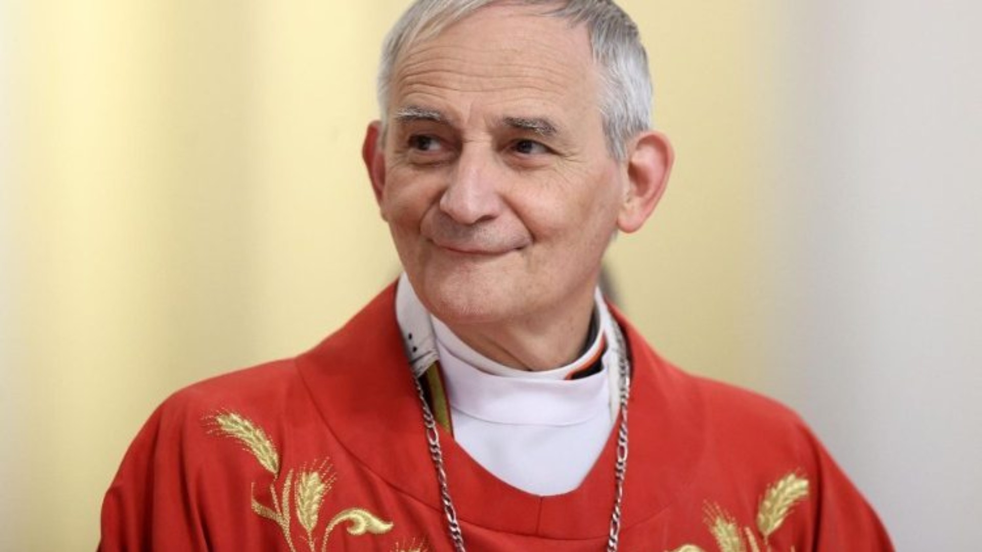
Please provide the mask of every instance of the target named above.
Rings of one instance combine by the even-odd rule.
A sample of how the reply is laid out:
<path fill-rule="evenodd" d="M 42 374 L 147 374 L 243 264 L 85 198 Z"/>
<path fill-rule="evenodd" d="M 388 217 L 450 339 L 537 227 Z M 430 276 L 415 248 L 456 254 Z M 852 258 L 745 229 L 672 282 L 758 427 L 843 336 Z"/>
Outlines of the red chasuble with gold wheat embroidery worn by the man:
<path fill-rule="evenodd" d="M 106 494 L 99 549 L 452 550 L 390 287 L 312 351 L 180 391 Z M 687 375 L 623 317 L 632 361 L 620 550 L 893 550 L 804 423 Z M 574 491 L 535 496 L 440 429 L 468 550 L 606 549 L 616 426 Z"/>

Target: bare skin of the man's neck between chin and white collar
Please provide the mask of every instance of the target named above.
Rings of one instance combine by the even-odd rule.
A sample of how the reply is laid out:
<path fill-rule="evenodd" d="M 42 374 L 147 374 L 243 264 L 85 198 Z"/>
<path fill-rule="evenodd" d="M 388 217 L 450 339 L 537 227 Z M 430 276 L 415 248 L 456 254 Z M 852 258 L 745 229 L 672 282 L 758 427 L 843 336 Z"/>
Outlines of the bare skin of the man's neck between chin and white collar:
<path fill-rule="evenodd" d="M 540 315 L 507 324 L 447 326 L 468 347 L 488 359 L 516 369 L 548 370 L 578 358 L 588 337 L 593 294 L 567 306 L 559 316 Z"/>

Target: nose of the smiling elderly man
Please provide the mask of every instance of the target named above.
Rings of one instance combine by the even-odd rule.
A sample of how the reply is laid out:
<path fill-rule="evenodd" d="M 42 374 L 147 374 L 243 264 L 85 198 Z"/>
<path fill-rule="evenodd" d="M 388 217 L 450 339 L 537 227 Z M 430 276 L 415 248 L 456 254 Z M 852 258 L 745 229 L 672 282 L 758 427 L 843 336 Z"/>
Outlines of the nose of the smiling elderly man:
<path fill-rule="evenodd" d="M 464 145 L 440 197 L 440 210 L 459 224 L 472 225 L 501 214 L 504 202 L 498 193 L 496 163 L 481 145 Z"/>

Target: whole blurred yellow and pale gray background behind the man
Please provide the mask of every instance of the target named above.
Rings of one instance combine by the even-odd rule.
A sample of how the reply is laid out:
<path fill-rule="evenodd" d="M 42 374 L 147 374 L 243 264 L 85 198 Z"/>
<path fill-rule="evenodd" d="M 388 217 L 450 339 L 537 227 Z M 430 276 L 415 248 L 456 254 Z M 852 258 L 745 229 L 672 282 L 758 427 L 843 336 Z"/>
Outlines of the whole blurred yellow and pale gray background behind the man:
<path fill-rule="evenodd" d="M 92 550 L 152 409 L 398 273 L 359 161 L 405 0 L 0 0 L 0 550 Z M 982 4 L 623 0 L 678 163 L 609 255 L 900 550 L 982 540 Z"/>

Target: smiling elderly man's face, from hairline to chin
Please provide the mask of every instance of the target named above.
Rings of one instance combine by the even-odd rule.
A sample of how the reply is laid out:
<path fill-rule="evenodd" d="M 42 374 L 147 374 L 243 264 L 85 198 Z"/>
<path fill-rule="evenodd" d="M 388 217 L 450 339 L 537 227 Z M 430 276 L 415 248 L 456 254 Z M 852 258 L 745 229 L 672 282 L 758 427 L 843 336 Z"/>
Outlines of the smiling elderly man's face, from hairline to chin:
<path fill-rule="evenodd" d="M 588 309 L 627 193 L 599 98 L 586 29 L 528 8 L 482 9 L 405 55 L 370 169 L 437 317 L 534 324 Z"/>

